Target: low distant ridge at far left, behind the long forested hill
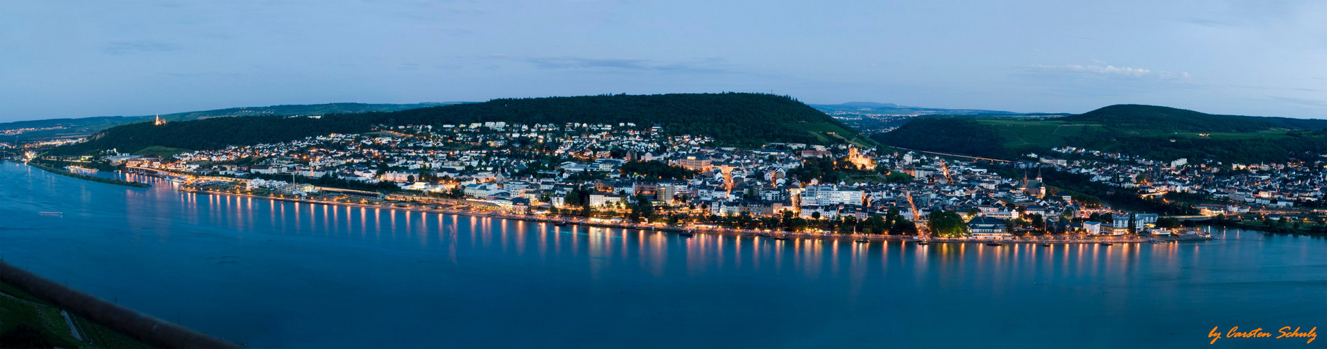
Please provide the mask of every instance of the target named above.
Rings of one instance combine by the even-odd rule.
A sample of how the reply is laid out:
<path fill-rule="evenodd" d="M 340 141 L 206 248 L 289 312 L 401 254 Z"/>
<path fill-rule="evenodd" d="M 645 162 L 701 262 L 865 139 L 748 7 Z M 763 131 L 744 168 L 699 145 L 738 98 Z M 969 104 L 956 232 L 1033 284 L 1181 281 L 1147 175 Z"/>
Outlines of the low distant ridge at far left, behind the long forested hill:
<path fill-rule="evenodd" d="M 395 105 L 395 104 L 273 105 L 273 106 L 227 107 L 227 109 L 203 110 L 203 111 L 171 113 L 171 114 L 162 114 L 161 117 L 166 121 L 191 121 L 191 119 L 216 118 L 216 117 L 324 115 L 324 114 L 365 113 L 365 111 L 398 111 L 398 110 L 442 106 L 453 104 L 462 104 L 462 102 L 442 102 L 442 104 L 429 102 L 429 104 L 403 104 L 403 105 Z M 84 137 L 119 125 L 149 122 L 153 121 L 155 117 L 157 115 L 90 117 L 90 118 L 57 118 L 57 119 L 0 122 L 0 131 L 28 129 L 23 130 L 21 133 L 17 133 L 17 138 L 20 141 Z M 5 141 L 8 139 L 12 138 L 7 138 Z"/>

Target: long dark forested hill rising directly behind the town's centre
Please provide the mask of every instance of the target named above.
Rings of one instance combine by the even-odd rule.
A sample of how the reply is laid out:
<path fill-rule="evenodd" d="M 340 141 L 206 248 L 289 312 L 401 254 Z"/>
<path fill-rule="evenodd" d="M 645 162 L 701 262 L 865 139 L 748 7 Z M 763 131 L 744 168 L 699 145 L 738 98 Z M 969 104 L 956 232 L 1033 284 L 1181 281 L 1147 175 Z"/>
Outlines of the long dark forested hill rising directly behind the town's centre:
<path fill-rule="evenodd" d="M 654 123 L 669 134 L 709 135 L 725 145 L 764 142 L 872 142 L 824 113 L 774 94 L 652 94 L 504 98 L 480 104 L 421 107 L 391 113 L 326 114 L 321 118 L 235 117 L 166 125 L 134 123 L 107 129 L 88 142 L 53 150 L 76 154 L 149 146 L 220 149 L 228 145 L 281 142 L 330 133 L 364 133 L 376 125 L 446 125 L 504 121 L 516 123 Z"/>

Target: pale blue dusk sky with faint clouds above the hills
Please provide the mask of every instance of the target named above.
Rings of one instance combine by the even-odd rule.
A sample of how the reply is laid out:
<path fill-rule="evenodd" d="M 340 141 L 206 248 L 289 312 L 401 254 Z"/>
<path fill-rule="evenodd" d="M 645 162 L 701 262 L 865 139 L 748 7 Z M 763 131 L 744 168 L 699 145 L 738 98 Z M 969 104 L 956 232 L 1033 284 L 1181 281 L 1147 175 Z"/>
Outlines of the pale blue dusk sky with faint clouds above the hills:
<path fill-rule="evenodd" d="M 1327 1 L 0 1 L 0 121 L 774 92 L 1327 118 Z"/>

